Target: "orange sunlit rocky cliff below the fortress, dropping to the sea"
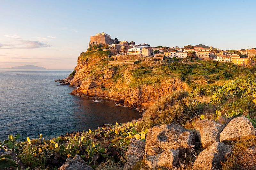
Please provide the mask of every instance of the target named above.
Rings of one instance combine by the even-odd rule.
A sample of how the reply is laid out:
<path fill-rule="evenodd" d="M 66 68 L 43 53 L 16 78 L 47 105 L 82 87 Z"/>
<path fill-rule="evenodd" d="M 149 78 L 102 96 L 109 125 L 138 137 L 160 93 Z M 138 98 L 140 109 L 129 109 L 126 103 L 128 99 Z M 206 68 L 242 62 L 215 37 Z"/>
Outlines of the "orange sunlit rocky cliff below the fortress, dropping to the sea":
<path fill-rule="evenodd" d="M 148 108 L 174 90 L 187 89 L 181 78 L 159 70 L 160 61 L 109 61 L 107 56 L 108 52 L 95 51 L 78 57 L 76 74 L 70 81 L 77 89 L 71 94 L 112 98 L 125 106 Z"/>

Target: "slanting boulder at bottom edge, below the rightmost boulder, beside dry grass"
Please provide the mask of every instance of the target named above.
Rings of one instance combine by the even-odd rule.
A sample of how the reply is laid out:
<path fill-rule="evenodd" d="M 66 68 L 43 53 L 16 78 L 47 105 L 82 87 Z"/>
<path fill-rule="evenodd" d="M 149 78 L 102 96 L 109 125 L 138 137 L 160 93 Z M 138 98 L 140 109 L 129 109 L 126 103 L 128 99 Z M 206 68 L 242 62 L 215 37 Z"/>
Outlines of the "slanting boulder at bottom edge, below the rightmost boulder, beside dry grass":
<path fill-rule="evenodd" d="M 200 152 L 194 162 L 193 169 L 215 170 L 220 167 L 232 149 L 221 142 L 215 142 Z"/>

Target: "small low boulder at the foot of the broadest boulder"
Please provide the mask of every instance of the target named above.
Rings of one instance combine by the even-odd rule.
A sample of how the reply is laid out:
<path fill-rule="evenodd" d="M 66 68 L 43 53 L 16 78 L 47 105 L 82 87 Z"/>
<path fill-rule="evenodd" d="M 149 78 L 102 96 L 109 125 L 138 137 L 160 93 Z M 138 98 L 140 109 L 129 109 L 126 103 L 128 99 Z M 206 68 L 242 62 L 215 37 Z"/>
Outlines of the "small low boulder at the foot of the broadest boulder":
<path fill-rule="evenodd" d="M 148 155 L 145 159 L 145 163 L 151 170 L 158 168 L 172 168 L 179 160 L 179 150 L 167 149 L 164 152 L 157 155 Z"/>

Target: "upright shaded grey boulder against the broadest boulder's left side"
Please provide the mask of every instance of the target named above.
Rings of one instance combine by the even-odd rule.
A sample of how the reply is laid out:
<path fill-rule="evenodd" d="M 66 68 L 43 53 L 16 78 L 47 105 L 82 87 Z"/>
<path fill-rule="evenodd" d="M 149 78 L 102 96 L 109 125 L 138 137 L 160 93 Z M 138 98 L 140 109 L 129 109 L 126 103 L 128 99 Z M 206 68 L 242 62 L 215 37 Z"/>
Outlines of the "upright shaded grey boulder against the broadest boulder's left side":
<path fill-rule="evenodd" d="M 145 155 L 145 142 L 132 138 L 128 146 L 126 157 L 127 163 L 124 165 L 123 170 L 130 170 L 133 166 L 143 158 Z"/>

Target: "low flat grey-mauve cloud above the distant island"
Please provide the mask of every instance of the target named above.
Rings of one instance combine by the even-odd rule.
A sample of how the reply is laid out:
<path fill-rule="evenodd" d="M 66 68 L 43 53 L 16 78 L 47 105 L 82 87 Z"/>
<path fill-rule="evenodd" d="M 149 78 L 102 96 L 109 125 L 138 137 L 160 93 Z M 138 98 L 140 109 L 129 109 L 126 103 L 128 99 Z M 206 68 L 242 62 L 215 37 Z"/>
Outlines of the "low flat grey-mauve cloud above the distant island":
<path fill-rule="evenodd" d="M 40 41 L 29 41 L 29 40 L 17 40 L 11 41 L 6 44 L 0 44 L 0 49 L 32 49 L 32 48 L 43 48 L 43 47 L 51 47 L 51 45 L 45 44 Z"/>

